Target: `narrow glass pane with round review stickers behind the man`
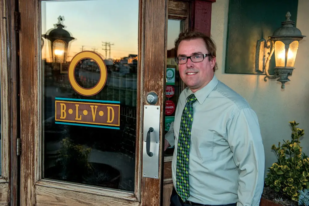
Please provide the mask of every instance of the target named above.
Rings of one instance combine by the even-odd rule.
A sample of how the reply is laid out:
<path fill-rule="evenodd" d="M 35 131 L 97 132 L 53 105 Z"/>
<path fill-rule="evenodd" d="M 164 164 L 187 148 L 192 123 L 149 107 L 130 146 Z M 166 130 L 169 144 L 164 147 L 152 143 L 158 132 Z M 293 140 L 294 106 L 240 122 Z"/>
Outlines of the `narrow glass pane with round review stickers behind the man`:
<path fill-rule="evenodd" d="M 166 91 L 165 91 L 165 134 L 174 121 L 177 101 L 181 93 L 180 76 L 175 57 L 175 40 L 183 30 L 183 21 L 168 19 L 167 21 L 167 68 L 166 68 Z M 173 155 L 174 148 L 168 148 L 165 156 Z"/>

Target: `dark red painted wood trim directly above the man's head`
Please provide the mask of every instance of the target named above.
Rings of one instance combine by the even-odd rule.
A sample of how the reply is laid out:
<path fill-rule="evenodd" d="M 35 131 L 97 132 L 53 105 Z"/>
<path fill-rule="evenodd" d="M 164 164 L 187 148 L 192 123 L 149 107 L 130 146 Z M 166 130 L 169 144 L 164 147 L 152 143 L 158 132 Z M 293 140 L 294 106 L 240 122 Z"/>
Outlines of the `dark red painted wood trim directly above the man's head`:
<path fill-rule="evenodd" d="M 192 2 L 191 30 L 210 36 L 211 4 L 215 0 L 195 0 Z"/>

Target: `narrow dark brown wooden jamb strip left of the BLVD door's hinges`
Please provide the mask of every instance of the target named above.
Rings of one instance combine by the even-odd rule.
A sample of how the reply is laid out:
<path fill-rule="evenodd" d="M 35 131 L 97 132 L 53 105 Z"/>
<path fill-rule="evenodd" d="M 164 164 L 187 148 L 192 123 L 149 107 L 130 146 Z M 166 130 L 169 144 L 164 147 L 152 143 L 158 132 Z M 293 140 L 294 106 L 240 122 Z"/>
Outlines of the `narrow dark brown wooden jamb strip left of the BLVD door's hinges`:
<path fill-rule="evenodd" d="M 18 49 L 18 2 L 5 0 L 7 25 L 7 68 L 9 69 L 10 112 L 10 204 L 19 204 L 19 156 L 16 142 L 19 136 L 19 49 Z M 16 18 L 15 18 L 16 15 Z"/>

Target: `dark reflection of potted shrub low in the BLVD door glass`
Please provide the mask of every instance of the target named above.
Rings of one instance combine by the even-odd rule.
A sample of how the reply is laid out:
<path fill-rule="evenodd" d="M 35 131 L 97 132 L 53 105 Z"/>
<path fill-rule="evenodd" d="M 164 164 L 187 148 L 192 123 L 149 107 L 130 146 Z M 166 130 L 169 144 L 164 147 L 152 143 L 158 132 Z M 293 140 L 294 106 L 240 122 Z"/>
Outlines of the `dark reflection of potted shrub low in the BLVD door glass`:
<path fill-rule="evenodd" d="M 75 141 L 66 137 L 62 139 L 58 153 L 59 157 L 55 166 L 45 170 L 45 177 L 101 187 L 119 188 L 120 171 L 107 164 L 89 162 L 91 147 L 75 143 Z"/>

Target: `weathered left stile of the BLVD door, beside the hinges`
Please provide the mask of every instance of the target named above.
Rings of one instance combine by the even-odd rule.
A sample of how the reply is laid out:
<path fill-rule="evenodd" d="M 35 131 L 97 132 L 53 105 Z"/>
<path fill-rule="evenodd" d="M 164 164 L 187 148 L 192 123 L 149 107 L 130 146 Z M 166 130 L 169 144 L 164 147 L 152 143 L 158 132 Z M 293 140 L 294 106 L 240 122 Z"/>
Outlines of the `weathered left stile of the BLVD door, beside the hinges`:
<path fill-rule="evenodd" d="M 20 0 L 20 205 L 35 205 L 35 137 L 40 135 L 39 13 L 37 0 Z"/>

